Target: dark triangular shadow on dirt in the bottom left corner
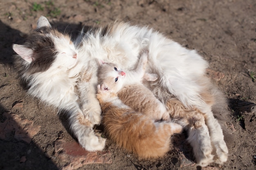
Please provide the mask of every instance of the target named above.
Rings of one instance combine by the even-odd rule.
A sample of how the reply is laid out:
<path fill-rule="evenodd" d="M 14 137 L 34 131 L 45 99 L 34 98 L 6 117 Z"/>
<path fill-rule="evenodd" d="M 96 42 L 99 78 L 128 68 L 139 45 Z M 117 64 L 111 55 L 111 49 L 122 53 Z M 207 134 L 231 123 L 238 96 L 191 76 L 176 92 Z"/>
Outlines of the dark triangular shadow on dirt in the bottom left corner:
<path fill-rule="evenodd" d="M 33 140 L 30 143 L 24 141 L 24 139 L 29 139 L 29 136 L 16 123 L 12 115 L 14 114 L 9 113 L 0 105 L 0 169 L 57 170 L 57 166 Z"/>

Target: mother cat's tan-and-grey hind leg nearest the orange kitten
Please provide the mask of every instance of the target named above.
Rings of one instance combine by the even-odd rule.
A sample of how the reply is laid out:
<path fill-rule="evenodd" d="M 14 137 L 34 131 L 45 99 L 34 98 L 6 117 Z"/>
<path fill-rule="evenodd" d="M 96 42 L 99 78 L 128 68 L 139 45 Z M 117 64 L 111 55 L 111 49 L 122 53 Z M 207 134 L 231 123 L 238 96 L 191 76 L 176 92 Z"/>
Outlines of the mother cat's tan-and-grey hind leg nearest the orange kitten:
<path fill-rule="evenodd" d="M 187 140 L 193 147 L 198 165 L 207 166 L 213 162 L 211 138 L 203 113 L 184 107 L 182 102 L 175 98 L 168 99 L 166 106 L 171 118 L 188 130 Z"/>

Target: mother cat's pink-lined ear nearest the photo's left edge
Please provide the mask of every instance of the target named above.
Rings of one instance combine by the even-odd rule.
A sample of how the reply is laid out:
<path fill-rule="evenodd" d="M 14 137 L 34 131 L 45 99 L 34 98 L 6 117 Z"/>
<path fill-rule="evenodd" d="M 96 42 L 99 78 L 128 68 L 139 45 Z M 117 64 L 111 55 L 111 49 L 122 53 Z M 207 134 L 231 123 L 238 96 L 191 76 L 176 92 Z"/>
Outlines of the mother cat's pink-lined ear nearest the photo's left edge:
<path fill-rule="evenodd" d="M 13 50 L 20 55 L 25 61 L 28 63 L 31 63 L 34 60 L 33 56 L 33 50 L 29 49 L 23 45 L 13 44 L 12 46 Z"/>

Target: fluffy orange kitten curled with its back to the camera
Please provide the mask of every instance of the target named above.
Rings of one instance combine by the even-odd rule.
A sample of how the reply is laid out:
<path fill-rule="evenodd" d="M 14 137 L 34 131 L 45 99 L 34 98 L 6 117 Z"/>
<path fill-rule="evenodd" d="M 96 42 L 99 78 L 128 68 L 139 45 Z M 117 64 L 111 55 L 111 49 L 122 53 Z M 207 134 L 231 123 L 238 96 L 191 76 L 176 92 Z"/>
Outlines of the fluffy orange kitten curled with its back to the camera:
<path fill-rule="evenodd" d="M 162 157 L 170 148 L 171 135 L 182 130 L 182 126 L 178 124 L 169 121 L 155 122 L 147 115 L 130 108 L 119 108 L 110 102 L 103 102 L 101 94 L 97 97 L 108 137 L 139 158 Z"/>

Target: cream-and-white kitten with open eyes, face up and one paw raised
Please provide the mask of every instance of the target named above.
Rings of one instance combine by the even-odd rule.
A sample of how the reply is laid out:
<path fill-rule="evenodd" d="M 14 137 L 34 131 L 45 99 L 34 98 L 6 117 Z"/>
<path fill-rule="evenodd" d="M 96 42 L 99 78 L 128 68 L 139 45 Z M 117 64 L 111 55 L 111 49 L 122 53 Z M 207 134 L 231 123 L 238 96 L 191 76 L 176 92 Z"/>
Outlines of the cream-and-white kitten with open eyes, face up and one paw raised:
<path fill-rule="evenodd" d="M 155 81 L 157 75 L 145 74 L 148 51 L 142 51 L 137 68 L 124 72 L 120 66 L 101 62 L 98 73 L 98 84 L 104 84 L 119 99 L 137 112 L 144 113 L 155 120 L 171 120 L 164 104 L 142 84 L 142 77 Z"/>

